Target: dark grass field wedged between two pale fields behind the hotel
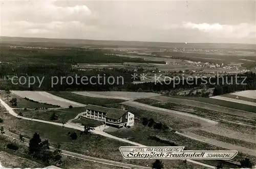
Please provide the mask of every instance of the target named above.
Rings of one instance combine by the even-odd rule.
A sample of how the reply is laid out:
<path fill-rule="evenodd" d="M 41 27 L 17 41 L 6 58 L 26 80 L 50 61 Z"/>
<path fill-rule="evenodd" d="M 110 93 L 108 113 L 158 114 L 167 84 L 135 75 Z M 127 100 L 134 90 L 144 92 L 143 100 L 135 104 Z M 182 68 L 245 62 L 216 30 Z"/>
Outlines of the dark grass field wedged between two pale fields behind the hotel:
<path fill-rule="evenodd" d="M 113 103 L 121 103 L 124 100 L 120 99 L 106 99 L 106 98 L 94 98 L 90 96 L 84 96 L 80 94 L 75 94 L 69 91 L 52 91 L 49 92 L 51 94 L 57 95 L 61 98 L 68 99 L 81 104 L 92 104 L 92 105 L 104 105 L 104 104 L 113 104 Z"/>

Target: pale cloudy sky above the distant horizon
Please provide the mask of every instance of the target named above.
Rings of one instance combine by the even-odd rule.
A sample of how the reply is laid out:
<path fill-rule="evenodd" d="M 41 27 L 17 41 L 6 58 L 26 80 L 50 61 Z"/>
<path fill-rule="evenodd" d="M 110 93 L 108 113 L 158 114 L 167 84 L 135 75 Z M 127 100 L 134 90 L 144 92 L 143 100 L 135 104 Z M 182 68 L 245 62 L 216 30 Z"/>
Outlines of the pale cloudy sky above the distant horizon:
<path fill-rule="evenodd" d="M 4 1 L 1 35 L 256 43 L 251 1 Z"/>

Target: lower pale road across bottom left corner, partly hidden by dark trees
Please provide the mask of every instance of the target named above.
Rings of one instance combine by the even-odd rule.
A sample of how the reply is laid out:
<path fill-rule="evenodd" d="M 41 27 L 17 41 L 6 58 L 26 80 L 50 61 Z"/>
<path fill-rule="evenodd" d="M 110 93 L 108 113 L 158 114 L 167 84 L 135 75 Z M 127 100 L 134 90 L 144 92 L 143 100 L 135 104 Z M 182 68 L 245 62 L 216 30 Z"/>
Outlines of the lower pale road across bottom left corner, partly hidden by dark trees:
<path fill-rule="evenodd" d="M 19 136 L 15 133 L 12 133 L 8 130 L 5 130 L 5 136 L 12 138 L 13 140 L 17 140 L 20 141 Z M 29 139 L 28 138 L 24 138 L 24 144 L 26 144 L 26 146 L 29 145 Z M 55 148 L 50 146 L 50 150 L 54 151 Z M 137 169 L 148 169 L 151 167 L 146 167 L 146 166 L 139 166 L 139 165 L 133 165 L 133 164 L 127 164 L 127 163 L 122 163 L 122 162 L 117 162 L 117 161 L 112 161 L 112 160 L 106 160 L 103 158 L 96 158 L 96 157 L 91 157 L 91 156 L 86 156 L 86 155 L 82 155 L 82 154 L 78 154 L 78 153 L 73 153 L 70 151 L 66 151 L 66 150 L 61 150 L 61 154 L 65 155 L 65 156 L 69 156 L 69 157 L 74 157 L 74 158 L 79 158 L 82 160 L 87 160 L 87 161 L 93 161 L 93 162 L 97 162 L 97 163 L 102 163 L 102 164 L 106 164 L 106 165 L 114 165 L 114 166 L 119 166 L 119 167 L 125 167 L 125 168 L 137 168 Z"/>

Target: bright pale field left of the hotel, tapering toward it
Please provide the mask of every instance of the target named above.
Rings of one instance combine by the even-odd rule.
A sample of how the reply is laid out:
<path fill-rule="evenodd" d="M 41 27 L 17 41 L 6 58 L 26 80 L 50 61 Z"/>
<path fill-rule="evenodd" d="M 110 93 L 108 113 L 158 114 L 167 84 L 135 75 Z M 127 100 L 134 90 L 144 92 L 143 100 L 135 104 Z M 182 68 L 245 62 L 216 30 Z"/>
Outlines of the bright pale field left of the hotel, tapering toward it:
<path fill-rule="evenodd" d="M 19 90 L 12 90 L 12 93 L 22 97 L 22 98 L 28 98 L 33 101 L 37 101 L 40 103 L 48 103 L 51 105 L 58 105 L 62 108 L 67 108 L 70 105 L 73 107 L 83 107 L 86 105 L 73 102 L 67 99 L 60 98 L 56 95 L 50 94 L 45 91 L 19 91 Z"/>

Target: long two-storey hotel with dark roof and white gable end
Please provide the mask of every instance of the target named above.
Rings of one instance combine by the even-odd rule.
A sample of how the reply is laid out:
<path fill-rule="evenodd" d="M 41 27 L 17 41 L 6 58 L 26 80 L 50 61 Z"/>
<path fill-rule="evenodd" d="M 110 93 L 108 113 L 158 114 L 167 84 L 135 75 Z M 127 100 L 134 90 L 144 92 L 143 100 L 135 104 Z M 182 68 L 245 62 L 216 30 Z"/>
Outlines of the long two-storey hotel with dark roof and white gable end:
<path fill-rule="evenodd" d="M 82 115 L 86 118 L 99 120 L 106 126 L 116 128 L 134 126 L 134 114 L 123 109 L 108 108 L 96 105 L 88 105 L 86 112 Z"/>

